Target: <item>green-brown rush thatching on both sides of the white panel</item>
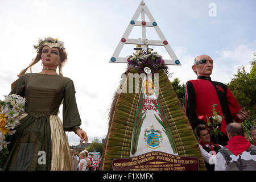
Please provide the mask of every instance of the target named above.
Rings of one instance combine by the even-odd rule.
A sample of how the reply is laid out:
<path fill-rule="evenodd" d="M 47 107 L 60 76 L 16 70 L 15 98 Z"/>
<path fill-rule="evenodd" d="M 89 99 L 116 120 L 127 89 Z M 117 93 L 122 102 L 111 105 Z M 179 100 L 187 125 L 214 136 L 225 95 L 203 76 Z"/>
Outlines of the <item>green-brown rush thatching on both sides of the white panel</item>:
<path fill-rule="evenodd" d="M 134 69 L 130 73 L 136 73 Z M 127 85 L 129 77 L 127 77 Z M 133 81 L 135 83 L 135 81 Z M 129 85 L 130 86 L 130 85 Z M 139 85 L 141 88 L 141 82 Z M 139 93 L 115 93 L 109 113 L 109 129 L 104 144 L 101 160 L 102 170 L 112 170 L 112 160 L 129 158 L 135 113 L 139 101 Z M 133 85 L 135 91 L 135 84 Z M 167 118 L 167 129 L 171 130 L 174 139 L 175 150 L 180 156 L 194 156 L 199 159 L 199 170 L 206 170 L 201 156 L 198 142 L 193 134 L 191 125 L 184 114 L 179 99 L 174 92 L 170 80 L 163 70 L 159 71 L 159 100 Z"/>

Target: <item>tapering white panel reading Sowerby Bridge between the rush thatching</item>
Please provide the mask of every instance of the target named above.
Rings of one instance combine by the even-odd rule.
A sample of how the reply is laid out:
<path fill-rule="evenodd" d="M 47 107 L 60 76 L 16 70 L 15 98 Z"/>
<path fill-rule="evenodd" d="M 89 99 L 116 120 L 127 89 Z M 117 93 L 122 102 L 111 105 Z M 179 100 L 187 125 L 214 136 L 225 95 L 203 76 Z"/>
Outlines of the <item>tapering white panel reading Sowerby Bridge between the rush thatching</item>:
<path fill-rule="evenodd" d="M 178 155 L 166 113 L 156 92 L 152 77 L 147 75 L 143 78 L 135 113 L 130 157 L 156 150 Z"/>

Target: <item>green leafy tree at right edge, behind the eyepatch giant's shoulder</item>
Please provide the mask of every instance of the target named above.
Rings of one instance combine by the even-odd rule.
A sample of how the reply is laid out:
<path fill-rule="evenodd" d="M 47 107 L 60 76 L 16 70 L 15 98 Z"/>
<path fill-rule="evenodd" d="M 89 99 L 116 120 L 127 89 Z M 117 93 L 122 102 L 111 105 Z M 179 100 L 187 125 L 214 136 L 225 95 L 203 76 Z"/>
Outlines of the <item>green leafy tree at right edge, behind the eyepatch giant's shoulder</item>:
<path fill-rule="evenodd" d="M 242 122 L 247 136 L 250 137 L 250 127 L 256 125 L 256 52 L 251 61 L 251 70 L 246 73 L 245 67 L 238 68 L 237 74 L 227 84 L 241 107 L 250 110 L 250 117 Z"/>

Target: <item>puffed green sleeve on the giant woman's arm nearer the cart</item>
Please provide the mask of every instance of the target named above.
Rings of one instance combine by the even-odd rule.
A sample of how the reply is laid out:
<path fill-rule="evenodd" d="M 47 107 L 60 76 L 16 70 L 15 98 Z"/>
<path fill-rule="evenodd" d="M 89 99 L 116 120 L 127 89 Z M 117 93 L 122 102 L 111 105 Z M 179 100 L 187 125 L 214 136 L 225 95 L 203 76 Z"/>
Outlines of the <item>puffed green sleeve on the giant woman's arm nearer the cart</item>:
<path fill-rule="evenodd" d="M 72 80 L 65 84 L 63 102 L 63 126 L 64 131 L 74 131 L 79 129 L 81 119 L 76 104 L 75 86 Z"/>

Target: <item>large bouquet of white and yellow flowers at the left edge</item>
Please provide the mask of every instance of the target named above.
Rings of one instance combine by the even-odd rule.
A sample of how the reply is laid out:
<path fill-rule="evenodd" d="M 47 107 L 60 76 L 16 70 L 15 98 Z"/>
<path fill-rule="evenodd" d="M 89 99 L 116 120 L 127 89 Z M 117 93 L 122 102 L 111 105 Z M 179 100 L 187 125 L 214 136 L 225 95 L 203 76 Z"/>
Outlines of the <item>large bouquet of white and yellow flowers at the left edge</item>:
<path fill-rule="evenodd" d="M 5 100 L 0 100 L 0 166 L 6 159 L 9 151 L 7 150 L 8 142 L 6 139 L 13 135 L 15 127 L 19 125 L 19 117 L 24 111 L 26 100 L 16 94 L 5 96 Z"/>

